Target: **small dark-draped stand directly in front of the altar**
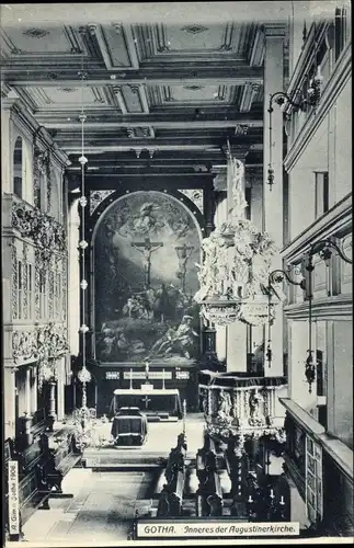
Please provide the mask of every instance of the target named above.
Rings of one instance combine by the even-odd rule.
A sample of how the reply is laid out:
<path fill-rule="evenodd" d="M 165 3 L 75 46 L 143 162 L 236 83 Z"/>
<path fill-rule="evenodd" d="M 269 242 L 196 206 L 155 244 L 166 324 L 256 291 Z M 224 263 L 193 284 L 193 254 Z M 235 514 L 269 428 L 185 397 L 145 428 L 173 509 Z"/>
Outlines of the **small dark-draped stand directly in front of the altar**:
<path fill-rule="evenodd" d="M 121 408 L 113 419 L 111 435 L 116 445 L 144 445 L 147 433 L 147 418 L 139 408 Z"/>

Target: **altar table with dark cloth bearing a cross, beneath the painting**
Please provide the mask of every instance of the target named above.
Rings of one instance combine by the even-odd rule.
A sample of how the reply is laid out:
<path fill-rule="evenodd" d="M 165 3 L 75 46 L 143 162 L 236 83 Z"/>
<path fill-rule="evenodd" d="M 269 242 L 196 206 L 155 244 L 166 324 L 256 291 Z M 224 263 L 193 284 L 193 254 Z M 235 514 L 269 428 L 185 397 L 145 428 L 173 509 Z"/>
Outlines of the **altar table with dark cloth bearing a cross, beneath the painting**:
<path fill-rule="evenodd" d="M 151 385 L 140 388 L 117 388 L 114 390 L 111 411 L 115 415 L 122 407 L 139 408 L 142 412 L 164 412 L 182 418 L 180 391 L 174 389 L 158 389 Z"/>

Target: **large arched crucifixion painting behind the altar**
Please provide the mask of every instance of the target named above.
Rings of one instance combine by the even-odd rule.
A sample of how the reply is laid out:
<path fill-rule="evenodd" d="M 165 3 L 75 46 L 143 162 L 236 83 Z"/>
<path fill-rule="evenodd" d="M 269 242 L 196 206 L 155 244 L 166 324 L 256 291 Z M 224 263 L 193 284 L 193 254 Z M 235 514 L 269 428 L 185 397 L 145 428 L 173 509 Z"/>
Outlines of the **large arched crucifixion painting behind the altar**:
<path fill-rule="evenodd" d="M 149 381 L 147 361 L 181 365 L 198 358 L 193 295 L 201 236 L 195 216 L 167 193 L 132 192 L 106 208 L 94 237 L 99 359 L 128 369 L 145 363 Z"/>

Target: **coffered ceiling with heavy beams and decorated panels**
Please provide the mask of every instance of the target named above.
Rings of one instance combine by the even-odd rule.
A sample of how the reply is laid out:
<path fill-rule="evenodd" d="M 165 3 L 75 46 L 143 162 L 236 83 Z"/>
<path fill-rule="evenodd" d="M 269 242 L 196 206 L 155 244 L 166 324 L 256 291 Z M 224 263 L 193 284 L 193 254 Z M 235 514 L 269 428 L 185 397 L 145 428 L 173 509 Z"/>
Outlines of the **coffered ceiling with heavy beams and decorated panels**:
<path fill-rule="evenodd" d="M 67 5 L 65 24 L 3 25 L 1 57 L 3 96 L 19 95 L 69 155 L 69 171 L 82 105 L 96 176 L 141 167 L 195 176 L 225 163 L 227 139 L 262 165 L 262 21 L 72 24 Z"/>

